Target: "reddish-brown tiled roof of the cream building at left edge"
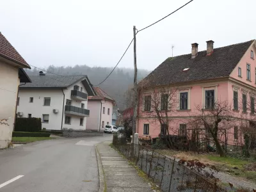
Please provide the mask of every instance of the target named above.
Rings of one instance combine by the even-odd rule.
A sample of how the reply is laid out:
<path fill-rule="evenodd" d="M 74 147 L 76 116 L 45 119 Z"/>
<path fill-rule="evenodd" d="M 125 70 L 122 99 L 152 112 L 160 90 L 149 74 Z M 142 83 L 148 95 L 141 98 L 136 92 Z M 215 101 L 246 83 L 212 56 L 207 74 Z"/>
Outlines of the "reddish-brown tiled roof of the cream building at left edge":
<path fill-rule="evenodd" d="M 15 61 L 20 65 L 24 66 L 24 68 L 30 68 L 28 63 L 20 56 L 19 52 L 8 42 L 8 40 L 3 36 L 0 32 L 0 56 L 8 60 Z"/>

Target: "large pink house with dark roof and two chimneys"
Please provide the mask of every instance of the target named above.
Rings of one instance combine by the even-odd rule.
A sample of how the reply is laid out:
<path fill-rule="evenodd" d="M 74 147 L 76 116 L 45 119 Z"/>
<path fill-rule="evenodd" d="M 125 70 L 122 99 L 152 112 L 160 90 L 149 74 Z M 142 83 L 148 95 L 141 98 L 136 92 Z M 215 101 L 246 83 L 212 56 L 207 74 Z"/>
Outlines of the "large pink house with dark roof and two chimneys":
<path fill-rule="evenodd" d="M 175 88 L 170 119 L 170 134 L 181 134 L 193 129 L 191 120 L 196 115 L 215 108 L 217 102 L 230 105 L 232 127 L 227 127 L 227 143 L 243 143 L 241 127 L 255 119 L 256 47 L 255 40 L 214 48 L 207 41 L 207 50 L 198 52 L 192 44 L 190 54 L 167 58 L 140 83 L 147 88 L 139 93 L 137 131 L 139 136 L 161 134 L 161 124 L 152 111 L 156 90 Z M 159 108 L 163 95 L 159 95 Z M 198 110 L 201 109 L 201 110 Z M 153 114 L 153 115 L 152 115 Z M 231 125 L 230 125 L 231 126 Z M 202 127 L 204 128 L 204 127 Z M 225 128 L 225 125 L 223 125 Z"/>

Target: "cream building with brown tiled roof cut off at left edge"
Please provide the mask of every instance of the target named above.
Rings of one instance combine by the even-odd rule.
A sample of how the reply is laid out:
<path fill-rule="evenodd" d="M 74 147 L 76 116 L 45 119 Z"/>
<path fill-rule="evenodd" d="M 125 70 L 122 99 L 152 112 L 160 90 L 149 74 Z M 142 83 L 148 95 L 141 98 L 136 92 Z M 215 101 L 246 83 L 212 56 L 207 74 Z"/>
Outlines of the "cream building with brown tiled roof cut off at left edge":
<path fill-rule="evenodd" d="M 20 83 L 31 82 L 23 68 L 30 68 L 0 32 L 0 148 L 12 141 Z"/>

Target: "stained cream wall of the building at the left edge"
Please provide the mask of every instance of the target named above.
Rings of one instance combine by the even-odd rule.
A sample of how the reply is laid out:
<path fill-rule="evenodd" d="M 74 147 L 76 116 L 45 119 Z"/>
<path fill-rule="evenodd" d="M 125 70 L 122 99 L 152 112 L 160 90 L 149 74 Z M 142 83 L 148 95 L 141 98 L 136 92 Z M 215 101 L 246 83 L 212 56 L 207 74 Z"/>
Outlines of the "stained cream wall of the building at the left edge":
<path fill-rule="evenodd" d="M 0 148 L 12 141 L 19 83 L 19 68 L 0 61 Z"/>

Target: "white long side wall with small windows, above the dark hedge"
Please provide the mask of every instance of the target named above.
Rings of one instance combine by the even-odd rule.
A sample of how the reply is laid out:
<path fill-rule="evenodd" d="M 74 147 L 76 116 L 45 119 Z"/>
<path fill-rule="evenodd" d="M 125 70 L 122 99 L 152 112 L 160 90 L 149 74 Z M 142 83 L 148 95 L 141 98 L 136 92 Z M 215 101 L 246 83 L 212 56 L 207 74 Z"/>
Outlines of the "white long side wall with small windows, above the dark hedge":
<path fill-rule="evenodd" d="M 20 90 L 20 102 L 17 106 L 17 113 L 22 112 L 22 117 L 43 118 L 43 114 L 49 115 L 49 123 L 42 123 L 42 128 L 61 129 L 61 116 L 63 106 L 63 93 L 61 90 Z M 33 97 L 33 102 L 29 102 L 29 97 Z M 44 106 L 44 97 L 51 97 L 50 106 Z M 53 113 L 53 109 L 58 109 L 59 113 Z"/>

